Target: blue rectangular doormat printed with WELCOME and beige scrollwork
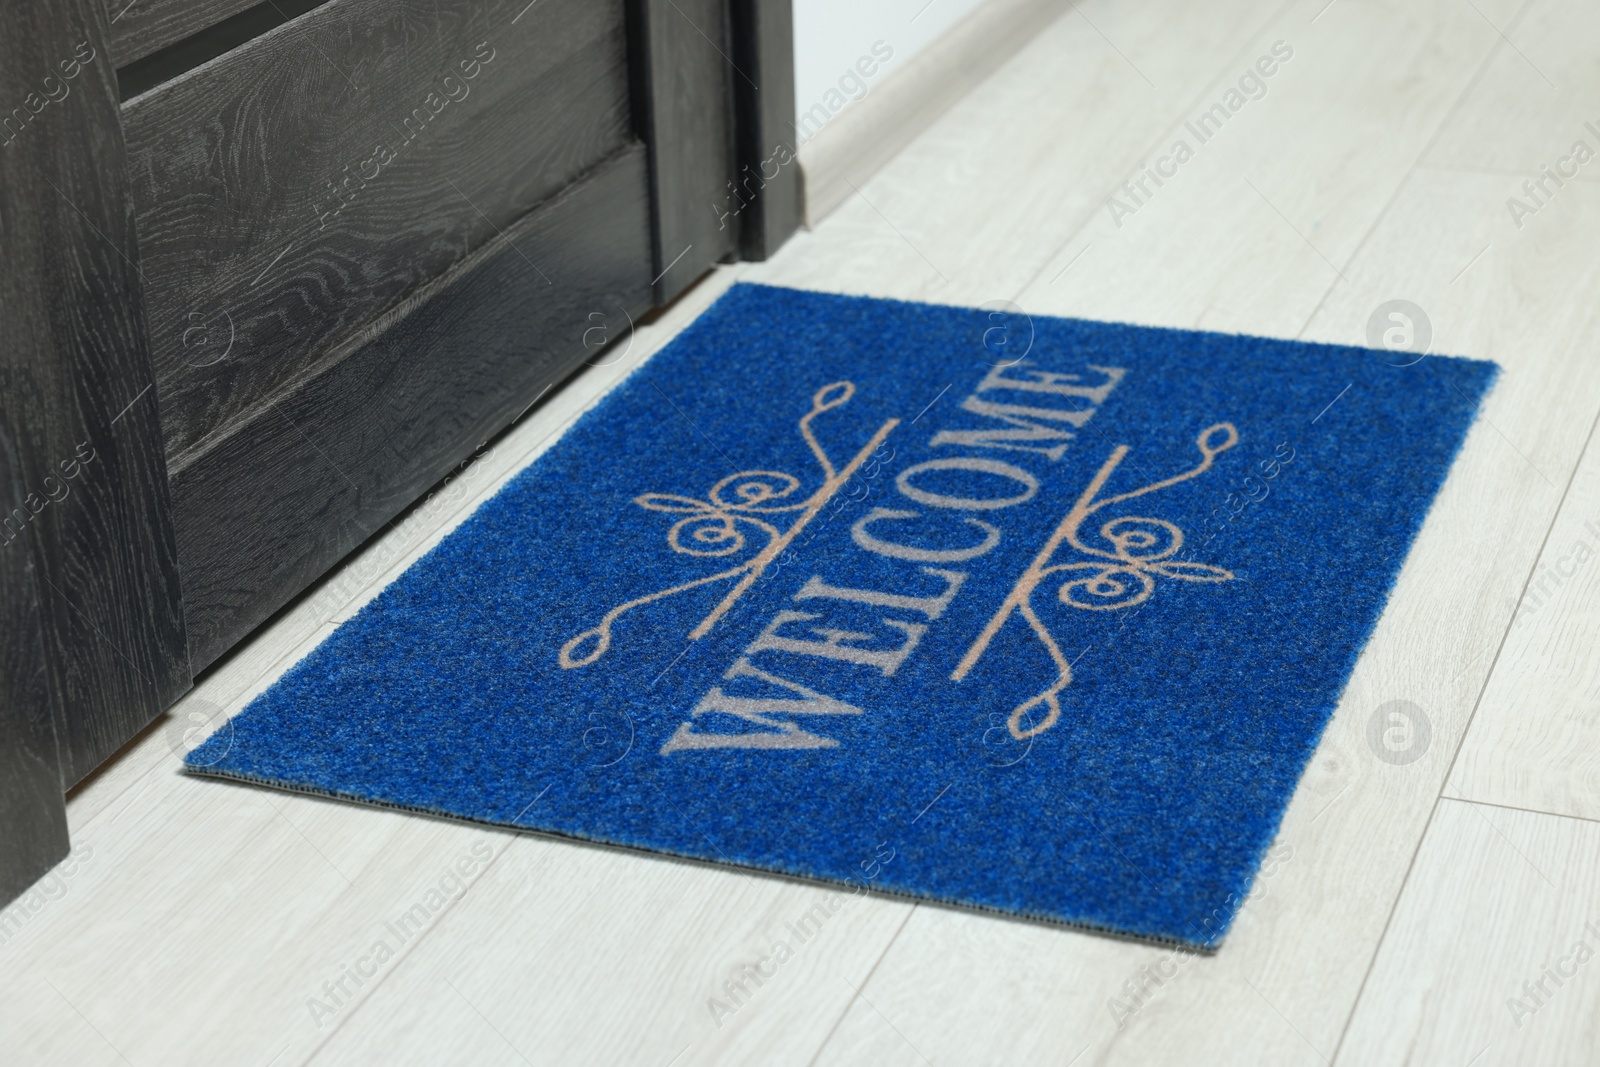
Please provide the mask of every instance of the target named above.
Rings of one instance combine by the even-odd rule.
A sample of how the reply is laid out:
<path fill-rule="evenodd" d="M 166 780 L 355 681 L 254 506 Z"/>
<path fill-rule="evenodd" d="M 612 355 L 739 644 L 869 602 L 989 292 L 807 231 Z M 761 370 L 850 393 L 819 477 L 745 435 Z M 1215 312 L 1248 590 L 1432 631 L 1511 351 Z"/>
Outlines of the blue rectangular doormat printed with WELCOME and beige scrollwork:
<path fill-rule="evenodd" d="M 736 286 L 190 769 L 1211 949 L 1498 370 L 1386 355 Z"/>

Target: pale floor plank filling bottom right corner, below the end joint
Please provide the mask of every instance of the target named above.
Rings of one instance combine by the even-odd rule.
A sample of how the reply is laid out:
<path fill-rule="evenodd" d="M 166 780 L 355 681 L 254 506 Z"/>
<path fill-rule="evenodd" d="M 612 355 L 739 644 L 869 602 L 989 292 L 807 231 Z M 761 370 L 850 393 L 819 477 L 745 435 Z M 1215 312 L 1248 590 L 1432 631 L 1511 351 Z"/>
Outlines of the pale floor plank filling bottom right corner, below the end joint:
<path fill-rule="evenodd" d="M 1445 800 L 1336 1062 L 1589 1067 L 1597 955 L 1600 825 Z"/>

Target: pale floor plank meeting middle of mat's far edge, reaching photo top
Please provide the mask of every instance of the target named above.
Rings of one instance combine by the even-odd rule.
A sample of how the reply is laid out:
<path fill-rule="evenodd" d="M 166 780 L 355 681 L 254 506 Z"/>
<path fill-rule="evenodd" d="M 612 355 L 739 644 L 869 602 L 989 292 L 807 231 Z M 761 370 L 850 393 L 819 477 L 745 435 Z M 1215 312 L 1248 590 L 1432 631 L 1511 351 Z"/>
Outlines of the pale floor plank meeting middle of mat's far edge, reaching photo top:
<path fill-rule="evenodd" d="M 1174 138 L 1194 158 L 1142 205 L 1120 195 L 1133 214 L 1094 213 L 1018 298 L 1026 310 L 1298 336 L 1325 293 L 1349 288 L 1344 264 L 1498 38 L 1454 3 L 1312 14 L 1296 6 L 1254 35 L 1251 58 L 1275 42 L 1294 51 L 1266 96 L 1203 144 L 1203 107 L 1186 110 Z M 1365 320 L 1338 339 L 1363 334 Z"/>

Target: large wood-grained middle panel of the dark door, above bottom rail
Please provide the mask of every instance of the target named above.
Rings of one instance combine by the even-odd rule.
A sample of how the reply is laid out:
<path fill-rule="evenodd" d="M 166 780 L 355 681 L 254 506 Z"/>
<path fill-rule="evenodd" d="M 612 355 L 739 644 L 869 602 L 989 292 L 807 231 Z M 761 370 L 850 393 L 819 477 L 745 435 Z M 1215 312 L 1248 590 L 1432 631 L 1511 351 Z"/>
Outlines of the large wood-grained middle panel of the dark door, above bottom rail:
<path fill-rule="evenodd" d="M 173 466 L 621 149 L 622 18 L 334 0 L 130 101 Z"/>

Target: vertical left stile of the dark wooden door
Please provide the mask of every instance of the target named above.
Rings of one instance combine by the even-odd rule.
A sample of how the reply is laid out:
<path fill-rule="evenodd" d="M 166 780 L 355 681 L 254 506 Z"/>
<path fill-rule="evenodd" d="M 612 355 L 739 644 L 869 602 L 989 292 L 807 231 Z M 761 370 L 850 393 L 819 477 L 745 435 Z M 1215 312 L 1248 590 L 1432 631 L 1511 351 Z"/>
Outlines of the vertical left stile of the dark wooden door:
<path fill-rule="evenodd" d="M 70 784 L 190 675 L 107 16 L 0 18 L 0 403 L 26 486 L 8 518 L 29 526 Z"/>

